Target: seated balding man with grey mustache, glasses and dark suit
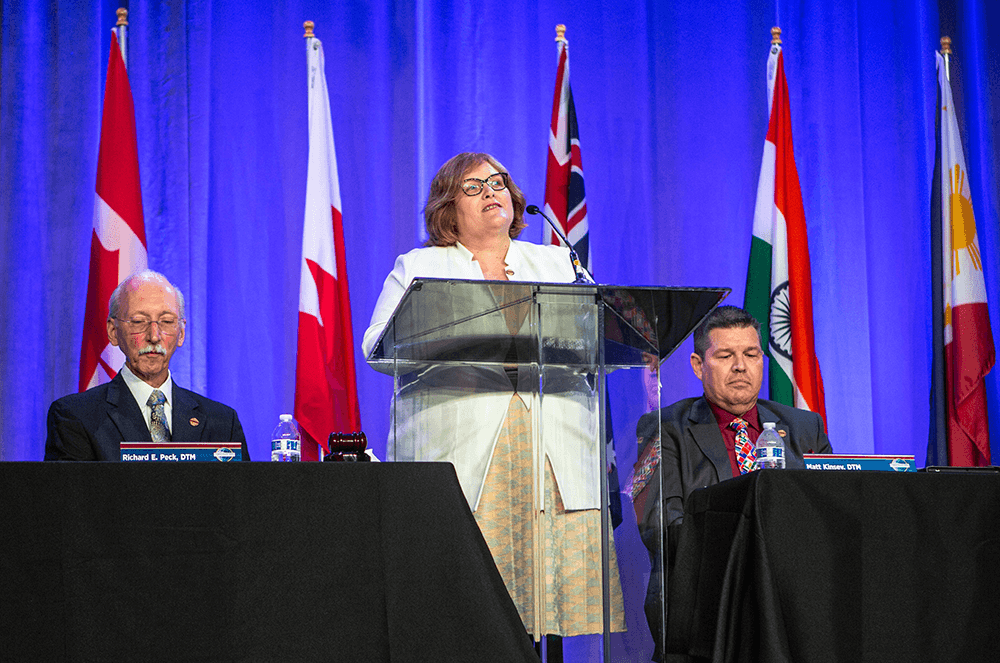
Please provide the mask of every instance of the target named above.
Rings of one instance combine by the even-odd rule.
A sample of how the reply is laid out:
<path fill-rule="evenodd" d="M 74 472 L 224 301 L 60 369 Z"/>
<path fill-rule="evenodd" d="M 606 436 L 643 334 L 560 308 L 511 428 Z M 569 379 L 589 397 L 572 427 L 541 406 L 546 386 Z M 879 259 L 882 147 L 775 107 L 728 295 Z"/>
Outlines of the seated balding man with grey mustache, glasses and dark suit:
<path fill-rule="evenodd" d="M 236 411 L 174 384 L 184 296 L 152 270 L 122 281 L 108 305 L 108 340 L 125 365 L 111 382 L 49 408 L 45 460 L 119 460 L 122 442 L 232 442 L 247 453 Z"/>

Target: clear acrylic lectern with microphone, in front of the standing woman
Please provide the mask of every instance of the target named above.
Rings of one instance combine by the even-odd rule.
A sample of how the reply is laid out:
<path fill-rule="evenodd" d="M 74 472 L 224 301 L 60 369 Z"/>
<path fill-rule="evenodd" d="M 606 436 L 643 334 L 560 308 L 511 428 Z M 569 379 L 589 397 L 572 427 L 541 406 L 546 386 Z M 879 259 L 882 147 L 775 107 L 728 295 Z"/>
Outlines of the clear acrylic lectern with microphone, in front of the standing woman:
<path fill-rule="evenodd" d="M 609 481 L 610 418 L 615 411 L 615 423 L 632 431 L 618 436 L 617 455 L 629 458 L 623 447 L 631 445 L 634 460 L 650 369 L 728 293 L 417 279 L 368 357 L 394 379 L 389 460 L 455 465 L 536 640 L 598 634 L 603 646 L 599 639 L 577 659 L 606 661 L 612 632 L 651 642 L 642 604 L 650 560 L 663 555 L 642 547 L 637 518 L 628 512 L 612 533 L 613 517 L 620 518 L 609 504 L 619 503 L 631 466 Z M 500 508 L 490 506 L 496 499 Z M 518 505 L 524 510 L 515 513 Z M 596 573 L 586 577 L 579 569 L 593 560 Z M 590 614 L 581 617 L 580 597 L 588 592 L 596 596 L 596 616 L 591 600 L 583 610 Z M 642 655 L 649 660 L 648 651 Z"/>

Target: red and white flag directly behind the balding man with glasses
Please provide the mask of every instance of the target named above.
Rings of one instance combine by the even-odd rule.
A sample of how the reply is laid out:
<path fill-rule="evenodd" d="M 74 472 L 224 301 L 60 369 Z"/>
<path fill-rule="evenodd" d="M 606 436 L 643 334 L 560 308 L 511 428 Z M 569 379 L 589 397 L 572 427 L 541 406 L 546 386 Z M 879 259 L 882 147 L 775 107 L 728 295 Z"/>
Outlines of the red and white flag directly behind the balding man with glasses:
<path fill-rule="evenodd" d="M 135 108 L 118 37 L 112 33 L 97 156 L 97 197 L 80 352 L 80 391 L 110 381 L 125 363 L 121 350 L 108 342 L 108 300 L 125 277 L 145 268 L 146 230 L 139 191 Z"/>

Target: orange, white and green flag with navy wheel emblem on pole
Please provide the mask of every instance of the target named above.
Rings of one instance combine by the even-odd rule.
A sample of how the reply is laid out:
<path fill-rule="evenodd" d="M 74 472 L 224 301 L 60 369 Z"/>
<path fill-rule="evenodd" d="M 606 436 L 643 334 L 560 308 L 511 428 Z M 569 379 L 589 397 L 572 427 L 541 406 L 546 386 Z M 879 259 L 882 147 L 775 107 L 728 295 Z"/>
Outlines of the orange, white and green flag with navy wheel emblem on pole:
<path fill-rule="evenodd" d="M 757 183 L 744 308 L 761 322 L 764 348 L 771 358 L 771 400 L 818 412 L 826 422 L 823 378 L 813 341 L 806 217 L 792 149 L 788 84 L 777 38 L 776 42 L 767 60 L 770 121 Z"/>

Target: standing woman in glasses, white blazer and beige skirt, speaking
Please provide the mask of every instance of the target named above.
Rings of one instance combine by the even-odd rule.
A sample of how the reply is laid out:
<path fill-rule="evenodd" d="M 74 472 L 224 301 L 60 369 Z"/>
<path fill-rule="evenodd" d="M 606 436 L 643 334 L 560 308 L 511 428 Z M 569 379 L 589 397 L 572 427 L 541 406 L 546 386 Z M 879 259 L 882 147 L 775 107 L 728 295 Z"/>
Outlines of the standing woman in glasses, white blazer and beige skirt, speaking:
<path fill-rule="evenodd" d="M 517 239 L 526 225 L 525 204 L 517 184 L 489 154 L 465 152 L 441 166 L 424 207 L 428 246 L 396 259 L 365 332 L 365 356 L 370 356 L 415 278 L 572 283 L 575 274 L 567 248 Z M 488 323 L 508 339 L 529 334 L 532 303 L 505 302 L 502 284 L 487 287 L 492 296 L 486 297 L 496 309 Z M 564 372 L 552 381 L 561 386 L 546 388 L 541 420 L 538 373 L 529 374 L 523 365 L 519 369 L 513 341 L 498 343 L 508 345 L 510 352 L 501 362 L 452 365 L 438 375 L 431 374 L 434 369 L 422 373 L 422 384 L 434 385 L 430 389 L 405 393 L 401 379 L 393 405 L 389 457 L 455 466 L 529 632 L 600 633 L 599 507 L 604 473 L 595 442 L 599 436 L 594 392 L 586 376 Z M 386 370 L 384 365 L 381 370 Z M 544 464 L 539 464 L 544 488 L 537 505 L 532 490 L 533 428 L 541 429 L 538 437 L 544 451 Z M 614 546 L 610 549 L 614 562 Z M 547 570 L 539 574 L 547 579 L 541 590 L 546 597 L 539 611 L 543 614 L 534 609 L 535 569 L 540 568 L 536 557 Z M 621 631 L 624 615 L 617 563 L 611 577 L 612 630 Z M 575 596 L 572 602 L 564 600 L 568 595 Z"/>

